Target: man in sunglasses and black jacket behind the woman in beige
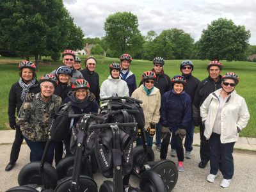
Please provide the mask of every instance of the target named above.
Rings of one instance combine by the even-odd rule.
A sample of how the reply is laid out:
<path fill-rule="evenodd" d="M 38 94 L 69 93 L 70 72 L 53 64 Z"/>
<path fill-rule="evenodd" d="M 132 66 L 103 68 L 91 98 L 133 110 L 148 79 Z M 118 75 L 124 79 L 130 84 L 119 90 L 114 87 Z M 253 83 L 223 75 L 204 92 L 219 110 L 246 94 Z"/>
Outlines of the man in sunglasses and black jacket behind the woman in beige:
<path fill-rule="evenodd" d="M 153 60 L 152 72 L 156 74 L 156 81 L 154 81 L 154 86 L 160 90 L 161 97 L 164 93 L 168 92 L 172 88 L 171 79 L 167 74 L 164 74 L 164 59 L 161 57 L 156 57 Z M 142 82 L 140 83 L 142 84 Z M 156 148 L 160 151 L 161 148 L 161 124 L 156 124 Z"/>

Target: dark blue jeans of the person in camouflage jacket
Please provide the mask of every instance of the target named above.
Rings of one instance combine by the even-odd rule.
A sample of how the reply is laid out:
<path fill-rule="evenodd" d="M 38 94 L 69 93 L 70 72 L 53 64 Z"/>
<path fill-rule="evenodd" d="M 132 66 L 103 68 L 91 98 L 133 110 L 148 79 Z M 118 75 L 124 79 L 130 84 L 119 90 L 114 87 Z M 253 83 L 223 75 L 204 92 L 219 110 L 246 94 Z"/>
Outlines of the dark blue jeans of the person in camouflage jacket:
<path fill-rule="evenodd" d="M 44 154 L 44 148 L 45 148 L 45 142 L 33 142 L 28 140 L 27 138 L 24 138 L 26 143 L 28 144 L 28 147 L 31 150 L 30 154 L 30 161 L 41 161 L 42 156 Z M 48 154 L 46 157 L 46 162 L 52 164 L 53 161 L 53 156 L 54 156 L 54 143 L 50 143 Z"/>

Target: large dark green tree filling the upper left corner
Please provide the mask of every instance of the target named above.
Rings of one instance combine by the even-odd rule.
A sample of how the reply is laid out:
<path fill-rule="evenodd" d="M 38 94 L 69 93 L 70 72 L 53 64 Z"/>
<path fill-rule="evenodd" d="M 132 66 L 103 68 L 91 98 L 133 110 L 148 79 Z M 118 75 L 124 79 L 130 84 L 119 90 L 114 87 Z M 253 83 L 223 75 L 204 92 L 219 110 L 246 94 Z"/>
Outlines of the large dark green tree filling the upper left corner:
<path fill-rule="evenodd" d="M 0 44 L 20 55 L 35 56 L 36 65 L 40 55 L 81 48 L 83 33 L 61 0 L 1 0 L 0 10 Z"/>

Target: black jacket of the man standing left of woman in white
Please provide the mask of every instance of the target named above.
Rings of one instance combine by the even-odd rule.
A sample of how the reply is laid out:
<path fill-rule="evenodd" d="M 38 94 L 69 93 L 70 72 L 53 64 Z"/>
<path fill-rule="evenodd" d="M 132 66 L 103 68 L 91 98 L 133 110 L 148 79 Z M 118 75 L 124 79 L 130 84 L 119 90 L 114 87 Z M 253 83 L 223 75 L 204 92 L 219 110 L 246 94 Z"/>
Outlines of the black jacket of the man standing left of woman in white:
<path fill-rule="evenodd" d="M 87 68 L 84 68 L 80 72 L 83 74 L 84 79 L 90 84 L 90 92 L 95 95 L 97 103 L 100 104 L 99 74 L 95 71 L 90 72 Z"/>

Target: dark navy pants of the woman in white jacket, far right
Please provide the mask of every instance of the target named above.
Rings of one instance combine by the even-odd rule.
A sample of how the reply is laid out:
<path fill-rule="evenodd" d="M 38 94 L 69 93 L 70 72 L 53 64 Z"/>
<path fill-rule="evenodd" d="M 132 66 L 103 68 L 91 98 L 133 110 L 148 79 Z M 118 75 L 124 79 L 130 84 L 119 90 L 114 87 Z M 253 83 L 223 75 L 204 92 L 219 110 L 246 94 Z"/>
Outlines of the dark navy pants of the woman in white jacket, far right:
<path fill-rule="evenodd" d="M 212 132 L 209 140 L 211 154 L 210 154 L 210 173 L 216 175 L 219 170 L 219 164 L 221 163 L 220 171 L 224 179 L 232 179 L 234 175 L 234 159 L 233 149 L 235 142 L 221 143 L 220 134 Z"/>

